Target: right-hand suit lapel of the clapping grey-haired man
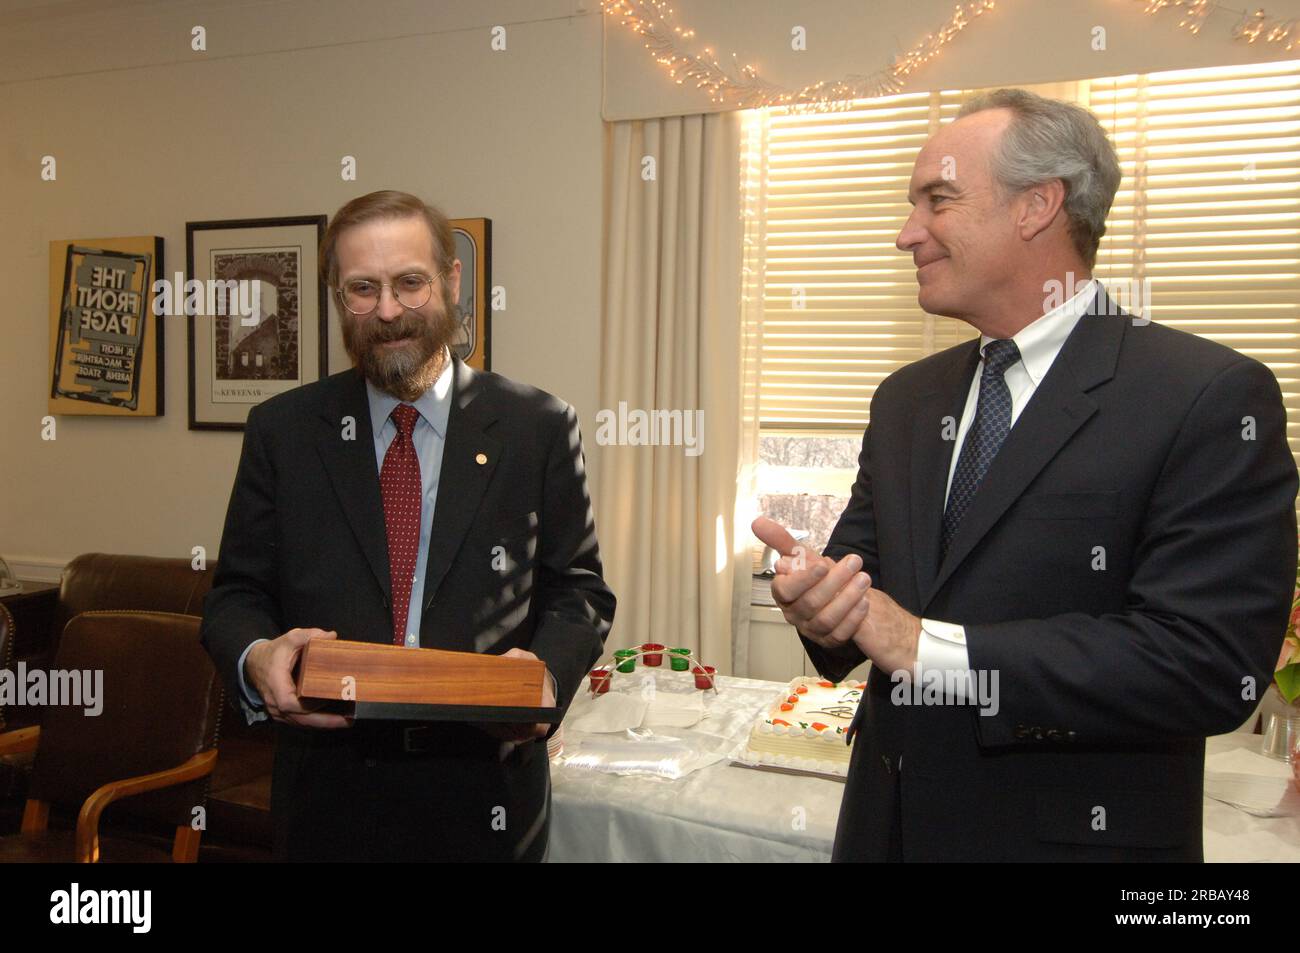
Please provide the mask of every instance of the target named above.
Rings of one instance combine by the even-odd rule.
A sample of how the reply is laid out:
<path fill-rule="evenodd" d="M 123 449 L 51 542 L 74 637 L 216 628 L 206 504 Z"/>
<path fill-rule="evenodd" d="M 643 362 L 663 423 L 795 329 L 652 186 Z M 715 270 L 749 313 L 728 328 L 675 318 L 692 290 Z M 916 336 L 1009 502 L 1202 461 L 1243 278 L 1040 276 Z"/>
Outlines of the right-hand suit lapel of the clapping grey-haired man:
<path fill-rule="evenodd" d="M 1117 312 L 1119 317 L 1113 316 Z M 1128 316 L 1119 312 L 1105 290 L 1098 287 L 1088 312 L 1066 338 L 1046 377 L 1034 391 L 1015 426 L 1008 433 L 1006 442 L 989 464 L 979 491 L 957 528 L 948 556 L 939 567 L 939 575 L 928 589 L 922 590 L 922 606 L 935 598 L 1034 477 L 1097 412 L 1097 402 L 1087 391 L 1114 377 L 1127 321 Z M 968 377 L 966 382 L 970 384 Z M 940 488 L 946 484 L 946 471 L 942 480 Z M 942 520 L 942 489 L 939 490 L 937 501 L 937 507 L 926 508 L 935 521 L 924 524 L 935 533 Z"/>

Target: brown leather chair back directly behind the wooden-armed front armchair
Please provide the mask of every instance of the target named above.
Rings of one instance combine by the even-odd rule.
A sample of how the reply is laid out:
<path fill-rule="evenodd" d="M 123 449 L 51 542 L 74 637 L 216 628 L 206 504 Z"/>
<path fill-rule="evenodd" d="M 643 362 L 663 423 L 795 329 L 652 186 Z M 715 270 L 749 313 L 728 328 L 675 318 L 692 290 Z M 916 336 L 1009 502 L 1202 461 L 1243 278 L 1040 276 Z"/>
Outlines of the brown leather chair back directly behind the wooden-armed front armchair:
<path fill-rule="evenodd" d="M 83 553 L 64 567 L 49 657 L 69 620 L 82 612 L 138 610 L 203 615 L 216 563 L 195 569 L 188 559 Z"/>

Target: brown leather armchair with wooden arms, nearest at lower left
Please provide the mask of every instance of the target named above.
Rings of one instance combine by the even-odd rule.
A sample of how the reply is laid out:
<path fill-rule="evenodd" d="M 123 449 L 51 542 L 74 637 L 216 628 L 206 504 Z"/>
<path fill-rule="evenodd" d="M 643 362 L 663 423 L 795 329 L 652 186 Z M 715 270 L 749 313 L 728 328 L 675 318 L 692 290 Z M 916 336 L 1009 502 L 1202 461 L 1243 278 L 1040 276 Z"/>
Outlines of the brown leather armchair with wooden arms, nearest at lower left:
<path fill-rule="evenodd" d="M 136 840 L 100 837 L 100 818 L 118 801 L 173 827 L 172 859 L 194 862 L 221 712 L 199 619 L 81 614 L 62 633 L 53 670 L 75 673 L 62 684 L 79 692 L 49 698 L 58 703 L 46 706 L 39 727 L 0 735 L 0 754 L 35 751 L 22 831 L 0 839 L 0 862 L 166 859 Z M 75 831 L 48 829 L 51 805 L 79 807 Z"/>

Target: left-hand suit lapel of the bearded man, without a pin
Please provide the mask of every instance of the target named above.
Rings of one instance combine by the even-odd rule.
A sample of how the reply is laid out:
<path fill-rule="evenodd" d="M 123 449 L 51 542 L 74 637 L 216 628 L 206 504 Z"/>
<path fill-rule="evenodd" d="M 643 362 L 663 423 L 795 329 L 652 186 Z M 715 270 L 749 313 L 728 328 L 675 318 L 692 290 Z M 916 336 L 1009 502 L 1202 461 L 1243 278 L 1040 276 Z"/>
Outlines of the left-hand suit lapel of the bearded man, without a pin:
<path fill-rule="evenodd" d="M 393 597 L 389 584 L 389 545 L 384 528 L 380 473 L 374 465 L 374 434 L 370 429 L 365 378 L 354 368 L 330 378 L 330 384 L 333 390 L 321 407 L 320 416 L 325 426 L 317 437 L 316 450 L 339 504 L 347 514 L 352 534 L 387 602 Z M 346 417 L 355 421 L 354 439 L 343 439 Z"/>

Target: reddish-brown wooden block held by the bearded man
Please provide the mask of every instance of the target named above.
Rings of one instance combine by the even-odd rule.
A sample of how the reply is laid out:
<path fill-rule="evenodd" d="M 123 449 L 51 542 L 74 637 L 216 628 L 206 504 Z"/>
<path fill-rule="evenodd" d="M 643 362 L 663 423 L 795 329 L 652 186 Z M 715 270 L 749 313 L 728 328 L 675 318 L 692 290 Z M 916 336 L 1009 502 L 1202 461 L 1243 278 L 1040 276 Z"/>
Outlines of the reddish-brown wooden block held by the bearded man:
<path fill-rule="evenodd" d="M 298 694 L 332 702 L 541 709 L 546 663 L 472 651 L 313 638 L 303 646 Z M 360 715 L 360 711 L 358 712 Z M 542 719 L 545 720 L 545 719 Z"/>

